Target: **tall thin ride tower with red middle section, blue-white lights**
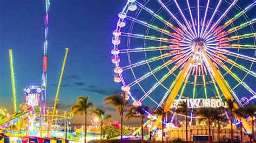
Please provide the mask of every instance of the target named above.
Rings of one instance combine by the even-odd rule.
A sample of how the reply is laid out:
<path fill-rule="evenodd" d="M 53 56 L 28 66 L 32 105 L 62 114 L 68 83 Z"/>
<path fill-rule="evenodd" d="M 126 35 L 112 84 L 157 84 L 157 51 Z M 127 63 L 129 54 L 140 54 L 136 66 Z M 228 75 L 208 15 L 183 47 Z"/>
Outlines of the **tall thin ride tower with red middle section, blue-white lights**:
<path fill-rule="evenodd" d="M 49 20 L 50 0 L 45 0 L 45 36 L 44 36 L 44 56 L 43 56 L 43 74 L 41 96 L 41 115 L 45 115 L 46 84 L 47 84 L 47 48 L 48 48 L 48 20 Z"/>

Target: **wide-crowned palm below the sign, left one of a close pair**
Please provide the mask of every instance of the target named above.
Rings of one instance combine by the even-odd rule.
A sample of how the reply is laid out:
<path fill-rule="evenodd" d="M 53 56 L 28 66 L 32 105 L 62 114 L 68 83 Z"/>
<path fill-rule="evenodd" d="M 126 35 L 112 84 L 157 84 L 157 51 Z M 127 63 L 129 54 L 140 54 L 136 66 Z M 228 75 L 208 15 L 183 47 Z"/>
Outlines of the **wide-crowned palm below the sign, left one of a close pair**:
<path fill-rule="evenodd" d="M 204 117 L 203 119 L 208 120 L 208 127 L 209 127 L 209 142 L 211 143 L 211 123 L 214 121 L 215 109 L 214 108 L 200 108 L 197 111 L 197 114 Z"/>

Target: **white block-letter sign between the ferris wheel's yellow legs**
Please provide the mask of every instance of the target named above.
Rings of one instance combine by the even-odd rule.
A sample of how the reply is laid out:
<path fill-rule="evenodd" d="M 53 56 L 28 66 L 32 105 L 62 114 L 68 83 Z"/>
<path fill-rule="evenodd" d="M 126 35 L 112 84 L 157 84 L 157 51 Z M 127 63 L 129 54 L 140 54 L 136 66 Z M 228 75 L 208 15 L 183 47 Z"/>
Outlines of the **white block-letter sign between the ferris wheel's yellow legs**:
<path fill-rule="evenodd" d="M 226 104 L 220 99 L 175 99 L 171 108 L 177 108 L 179 102 L 185 101 L 188 108 L 201 108 L 201 107 L 212 107 L 218 108 L 220 106 L 226 107 Z"/>

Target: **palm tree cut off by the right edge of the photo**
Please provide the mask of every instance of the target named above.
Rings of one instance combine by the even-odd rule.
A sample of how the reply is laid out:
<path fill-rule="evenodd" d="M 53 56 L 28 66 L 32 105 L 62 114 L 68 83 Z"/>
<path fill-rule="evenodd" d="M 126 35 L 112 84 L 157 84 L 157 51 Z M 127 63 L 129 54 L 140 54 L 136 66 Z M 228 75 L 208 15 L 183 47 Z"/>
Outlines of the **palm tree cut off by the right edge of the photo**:
<path fill-rule="evenodd" d="M 244 106 L 244 113 L 247 117 L 252 118 L 252 142 L 255 142 L 254 137 L 254 116 L 256 112 L 256 103 L 250 103 Z"/>

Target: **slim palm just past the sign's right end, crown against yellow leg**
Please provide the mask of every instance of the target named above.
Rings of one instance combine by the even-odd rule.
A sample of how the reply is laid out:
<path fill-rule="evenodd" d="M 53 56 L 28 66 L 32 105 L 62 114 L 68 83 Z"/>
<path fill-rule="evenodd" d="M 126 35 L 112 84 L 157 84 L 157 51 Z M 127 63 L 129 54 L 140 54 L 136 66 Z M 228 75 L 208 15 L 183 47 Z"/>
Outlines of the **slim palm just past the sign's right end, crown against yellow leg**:
<path fill-rule="evenodd" d="M 230 115 L 230 124 L 231 124 L 231 143 L 233 143 L 233 117 L 234 117 L 234 111 L 235 111 L 235 102 L 233 99 L 231 98 L 225 98 L 223 100 L 224 102 L 226 102 L 227 105 L 227 112 Z"/>

